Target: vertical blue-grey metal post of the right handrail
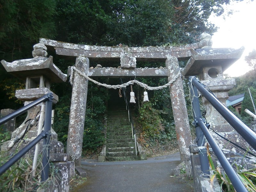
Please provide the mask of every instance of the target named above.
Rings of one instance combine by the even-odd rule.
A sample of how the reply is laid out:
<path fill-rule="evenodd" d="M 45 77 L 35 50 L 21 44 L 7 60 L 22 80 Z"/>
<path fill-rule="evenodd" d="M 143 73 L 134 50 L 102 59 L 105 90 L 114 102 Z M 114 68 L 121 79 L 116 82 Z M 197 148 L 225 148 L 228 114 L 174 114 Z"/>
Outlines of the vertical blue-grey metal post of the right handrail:
<path fill-rule="evenodd" d="M 192 86 L 192 87 L 191 87 Z M 201 170 L 204 173 L 204 177 L 209 177 L 210 175 L 210 166 L 209 166 L 209 160 L 207 157 L 207 151 L 206 148 L 204 147 L 205 144 L 205 139 L 204 139 L 204 133 L 202 132 L 200 126 L 198 125 L 197 119 L 202 118 L 201 116 L 201 110 L 200 110 L 200 105 L 199 105 L 199 99 L 198 99 L 198 92 L 195 86 L 191 84 L 189 81 L 189 91 L 190 91 L 190 96 L 192 99 L 192 107 L 193 107 L 193 116 L 194 116 L 194 125 L 196 128 L 196 141 L 197 141 L 197 146 L 199 149 L 199 158 L 200 158 L 200 164 L 201 164 Z"/>

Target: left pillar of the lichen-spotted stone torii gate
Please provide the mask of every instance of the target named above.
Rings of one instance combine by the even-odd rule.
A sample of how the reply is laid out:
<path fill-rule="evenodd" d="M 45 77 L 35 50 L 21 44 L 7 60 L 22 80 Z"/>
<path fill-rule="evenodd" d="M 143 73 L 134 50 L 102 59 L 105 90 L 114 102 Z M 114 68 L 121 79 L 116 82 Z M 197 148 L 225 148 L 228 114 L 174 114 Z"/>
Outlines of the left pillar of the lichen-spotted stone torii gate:
<path fill-rule="evenodd" d="M 78 70 L 88 75 L 88 58 L 78 56 L 76 58 L 75 66 Z M 68 124 L 67 153 L 78 166 L 81 164 L 87 90 L 88 80 L 84 80 L 83 76 L 74 72 Z"/>

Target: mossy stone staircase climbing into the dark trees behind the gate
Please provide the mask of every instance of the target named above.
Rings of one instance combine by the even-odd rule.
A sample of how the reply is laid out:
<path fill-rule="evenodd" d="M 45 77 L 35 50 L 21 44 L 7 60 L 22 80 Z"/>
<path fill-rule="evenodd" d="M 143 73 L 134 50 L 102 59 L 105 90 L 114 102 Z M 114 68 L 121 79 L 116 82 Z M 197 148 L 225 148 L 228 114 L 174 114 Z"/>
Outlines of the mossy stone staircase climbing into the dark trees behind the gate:
<path fill-rule="evenodd" d="M 129 122 L 124 99 L 118 97 L 114 98 L 114 100 L 115 103 L 108 103 L 106 160 L 139 160 L 135 152 L 132 126 Z"/>

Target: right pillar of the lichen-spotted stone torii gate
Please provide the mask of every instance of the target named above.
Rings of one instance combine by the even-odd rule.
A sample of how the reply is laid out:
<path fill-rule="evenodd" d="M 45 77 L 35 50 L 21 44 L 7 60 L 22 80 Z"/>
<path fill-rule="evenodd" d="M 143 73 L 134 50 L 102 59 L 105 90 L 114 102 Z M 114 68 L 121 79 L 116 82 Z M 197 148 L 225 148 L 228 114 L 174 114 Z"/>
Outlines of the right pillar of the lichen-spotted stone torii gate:
<path fill-rule="evenodd" d="M 168 69 L 168 81 L 170 81 L 174 76 L 178 74 L 180 70 L 178 59 L 176 57 L 168 57 L 165 61 L 165 66 Z M 192 140 L 181 76 L 178 77 L 176 81 L 169 86 L 169 89 L 172 100 L 172 111 L 177 140 L 180 149 L 180 158 L 183 161 L 186 157 L 189 158 L 190 156 L 189 145 L 192 143 Z"/>

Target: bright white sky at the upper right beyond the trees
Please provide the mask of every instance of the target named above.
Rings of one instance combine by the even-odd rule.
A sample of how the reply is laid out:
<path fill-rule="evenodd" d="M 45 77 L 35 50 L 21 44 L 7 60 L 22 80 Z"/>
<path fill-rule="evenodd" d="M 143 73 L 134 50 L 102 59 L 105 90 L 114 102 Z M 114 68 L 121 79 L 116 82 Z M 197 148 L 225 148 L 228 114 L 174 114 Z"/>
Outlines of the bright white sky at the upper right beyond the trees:
<path fill-rule="evenodd" d="M 229 10 L 234 10 L 232 15 L 227 16 Z M 256 1 L 244 0 L 242 2 L 231 2 L 226 8 L 224 17 L 211 15 L 209 21 L 219 27 L 218 31 L 212 36 L 212 47 L 245 47 L 241 59 L 237 60 L 224 73 L 229 76 L 241 76 L 250 70 L 244 61 L 244 56 L 256 49 Z"/>

